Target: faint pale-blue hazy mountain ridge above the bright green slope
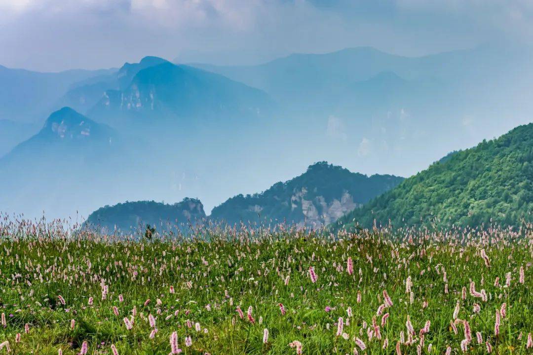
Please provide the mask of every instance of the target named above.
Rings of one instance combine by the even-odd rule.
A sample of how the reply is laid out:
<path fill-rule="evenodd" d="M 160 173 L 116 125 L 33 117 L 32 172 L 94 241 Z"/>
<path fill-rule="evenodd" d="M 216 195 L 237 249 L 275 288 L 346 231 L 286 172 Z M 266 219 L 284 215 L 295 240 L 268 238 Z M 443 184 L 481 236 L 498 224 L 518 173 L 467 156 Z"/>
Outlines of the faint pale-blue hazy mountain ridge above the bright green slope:
<path fill-rule="evenodd" d="M 410 176 L 528 123 L 531 60 L 528 46 L 489 43 L 416 57 L 358 47 L 259 65 L 191 65 L 269 94 L 280 131 L 308 156 Z"/>

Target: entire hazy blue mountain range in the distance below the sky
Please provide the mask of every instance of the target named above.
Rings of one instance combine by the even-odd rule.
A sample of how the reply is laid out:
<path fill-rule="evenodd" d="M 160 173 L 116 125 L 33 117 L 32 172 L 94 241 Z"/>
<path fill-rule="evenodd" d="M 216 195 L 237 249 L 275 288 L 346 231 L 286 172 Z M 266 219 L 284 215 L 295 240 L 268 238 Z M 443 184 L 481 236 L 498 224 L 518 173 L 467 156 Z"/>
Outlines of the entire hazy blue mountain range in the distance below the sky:
<path fill-rule="evenodd" d="M 43 210 L 64 217 L 193 196 L 210 212 L 243 194 L 243 206 L 260 206 L 258 217 L 279 220 L 285 215 L 269 212 L 266 195 L 253 194 L 301 174 L 309 161 L 410 176 L 447 152 L 529 122 L 531 53 L 482 46 L 403 57 L 362 47 L 248 67 L 149 56 L 99 71 L 2 68 L 0 184 L 9 188 L 0 203 L 28 217 Z M 71 111 L 83 118 L 72 120 Z M 52 116 L 66 136 L 52 131 Z M 78 137 L 81 121 L 91 137 Z"/>

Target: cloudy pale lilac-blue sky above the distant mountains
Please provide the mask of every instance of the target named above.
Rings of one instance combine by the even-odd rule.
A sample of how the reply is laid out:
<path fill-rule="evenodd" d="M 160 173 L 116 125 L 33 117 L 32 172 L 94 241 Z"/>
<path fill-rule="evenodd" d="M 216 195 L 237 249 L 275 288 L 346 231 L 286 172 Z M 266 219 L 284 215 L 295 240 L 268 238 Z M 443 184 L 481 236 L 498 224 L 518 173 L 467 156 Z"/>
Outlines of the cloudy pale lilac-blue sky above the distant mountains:
<path fill-rule="evenodd" d="M 0 0 L 0 64 L 99 69 L 156 55 L 256 64 L 356 46 L 418 56 L 530 44 L 530 0 Z"/>

